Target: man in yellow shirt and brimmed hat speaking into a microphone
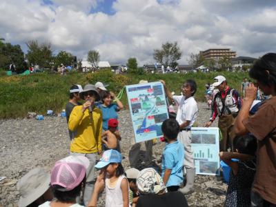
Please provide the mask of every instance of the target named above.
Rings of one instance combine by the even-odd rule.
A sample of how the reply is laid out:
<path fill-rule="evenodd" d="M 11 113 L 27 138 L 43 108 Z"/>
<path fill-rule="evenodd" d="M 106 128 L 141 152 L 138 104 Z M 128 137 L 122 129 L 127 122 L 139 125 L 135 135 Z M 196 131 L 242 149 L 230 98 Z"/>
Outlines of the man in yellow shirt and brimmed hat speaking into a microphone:
<path fill-rule="evenodd" d="M 87 205 L 94 188 L 95 164 L 97 153 L 101 154 L 102 112 L 95 107 L 95 101 L 100 97 L 91 84 L 84 86 L 79 92 L 79 97 L 85 100 L 82 106 L 75 106 L 68 121 L 68 128 L 75 131 L 75 137 L 71 141 L 70 155 L 84 156 L 90 161 L 86 170 L 86 187 L 83 201 Z"/>

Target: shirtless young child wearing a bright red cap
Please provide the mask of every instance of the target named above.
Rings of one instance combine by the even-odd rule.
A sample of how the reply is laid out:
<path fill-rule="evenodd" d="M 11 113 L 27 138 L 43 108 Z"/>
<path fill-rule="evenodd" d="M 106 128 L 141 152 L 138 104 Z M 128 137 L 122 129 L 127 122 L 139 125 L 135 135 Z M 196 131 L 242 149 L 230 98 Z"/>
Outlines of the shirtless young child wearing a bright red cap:
<path fill-rule="evenodd" d="M 117 150 L 121 152 L 121 147 L 119 141 L 121 140 L 121 135 L 117 129 L 119 122 L 117 119 L 108 120 L 108 130 L 102 132 L 101 141 L 104 144 L 104 150 Z"/>

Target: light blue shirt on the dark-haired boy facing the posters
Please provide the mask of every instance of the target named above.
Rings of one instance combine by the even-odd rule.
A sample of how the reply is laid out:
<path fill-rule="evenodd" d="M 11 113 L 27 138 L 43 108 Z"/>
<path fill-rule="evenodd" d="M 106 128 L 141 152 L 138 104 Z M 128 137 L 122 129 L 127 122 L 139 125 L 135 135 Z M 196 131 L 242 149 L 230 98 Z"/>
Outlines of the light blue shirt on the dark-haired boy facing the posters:
<path fill-rule="evenodd" d="M 162 177 L 166 169 L 172 170 L 166 184 L 169 186 L 180 186 L 183 182 L 183 161 L 184 161 L 184 146 L 179 141 L 167 144 L 163 151 L 162 159 Z"/>

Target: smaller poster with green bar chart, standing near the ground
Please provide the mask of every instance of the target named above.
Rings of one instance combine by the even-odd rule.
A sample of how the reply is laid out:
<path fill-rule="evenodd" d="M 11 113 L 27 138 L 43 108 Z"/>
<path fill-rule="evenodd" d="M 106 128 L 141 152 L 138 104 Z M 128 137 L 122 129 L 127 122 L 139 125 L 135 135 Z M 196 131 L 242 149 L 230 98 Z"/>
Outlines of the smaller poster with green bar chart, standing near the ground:
<path fill-rule="evenodd" d="M 219 128 L 192 127 L 191 131 L 196 174 L 219 175 Z"/>

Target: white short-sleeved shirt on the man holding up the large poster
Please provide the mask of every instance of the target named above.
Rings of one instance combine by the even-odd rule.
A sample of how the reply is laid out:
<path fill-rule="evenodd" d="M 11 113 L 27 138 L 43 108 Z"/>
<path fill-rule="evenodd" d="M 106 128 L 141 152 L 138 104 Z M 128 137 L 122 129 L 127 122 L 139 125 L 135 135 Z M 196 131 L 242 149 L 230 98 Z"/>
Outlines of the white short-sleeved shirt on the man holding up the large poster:
<path fill-rule="evenodd" d="M 190 121 L 187 128 L 192 127 L 198 115 L 197 101 L 194 97 L 185 99 L 184 96 L 172 96 L 172 98 L 179 105 L 176 117 L 178 124 L 181 125 L 184 121 Z"/>

